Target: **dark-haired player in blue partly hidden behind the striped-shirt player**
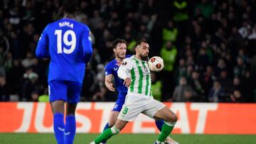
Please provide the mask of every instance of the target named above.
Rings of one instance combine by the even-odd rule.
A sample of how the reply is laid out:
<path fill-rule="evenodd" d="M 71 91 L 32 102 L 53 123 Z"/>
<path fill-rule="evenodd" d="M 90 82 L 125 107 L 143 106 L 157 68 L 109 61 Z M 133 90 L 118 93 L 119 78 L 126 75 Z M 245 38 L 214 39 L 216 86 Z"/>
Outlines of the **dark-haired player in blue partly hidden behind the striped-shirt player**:
<path fill-rule="evenodd" d="M 114 126 L 114 123 L 117 121 L 117 117 L 119 115 L 119 112 L 122 109 L 122 106 L 124 105 L 125 96 L 127 95 L 127 87 L 124 85 L 124 80 L 119 79 L 117 76 L 117 70 L 119 69 L 119 66 L 122 64 L 122 61 L 127 58 L 131 57 L 132 55 L 126 55 L 127 52 L 127 42 L 122 39 L 117 39 L 112 41 L 110 44 L 110 47 L 114 51 L 115 59 L 111 62 L 107 63 L 105 66 L 105 85 L 107 89 L 114 92 L 117 89 L 118 95 L 117 95 L 117 101 L 114 104 L 114 108 L 112 109 L 110 113 L 110 119 L 108 123 L 106 124 L 105 129 L 111 128 Z M 112 83 L 112 79 L 114 77 L 114 83 Z M 114 85 L 116 89 L 114 88 Z M 164 124 L 164 121 L 162 120 L 155 120 L 156 126 L 161 131 L 161 128 Z M 167 138 L 166 141 L 169 142 L 171 138 Z M 106 143 L 106 141 L 102 141 L 102 143 Z"/>

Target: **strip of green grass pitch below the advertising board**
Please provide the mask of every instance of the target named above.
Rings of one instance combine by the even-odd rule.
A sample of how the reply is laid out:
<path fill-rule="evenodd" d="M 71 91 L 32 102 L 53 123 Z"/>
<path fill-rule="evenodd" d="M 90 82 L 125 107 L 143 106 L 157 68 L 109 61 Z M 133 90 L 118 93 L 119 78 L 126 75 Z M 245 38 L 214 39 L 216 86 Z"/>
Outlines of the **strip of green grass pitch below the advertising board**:
<path fill-rule="evenodd" d="M 89 144 L 98 134 L 77 134 L 74 144 Z M 156 134 L 119 134 L 109 144 L 153 144 Z M 256 144 L 256 135 L 171 135 L 181 144 Z M 53 144 L 52 133 L 0 133 L 0 144 Z"/>

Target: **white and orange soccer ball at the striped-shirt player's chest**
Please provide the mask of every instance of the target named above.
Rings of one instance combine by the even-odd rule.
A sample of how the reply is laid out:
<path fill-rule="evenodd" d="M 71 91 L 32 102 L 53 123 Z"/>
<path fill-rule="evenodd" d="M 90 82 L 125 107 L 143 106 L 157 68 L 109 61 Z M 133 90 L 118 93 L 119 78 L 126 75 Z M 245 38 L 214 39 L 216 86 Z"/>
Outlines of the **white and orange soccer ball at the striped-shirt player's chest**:
<path fill-rule="evenodd" d="M 149 59 L 149 69 L 152 72 L 160 72 L 164 69 L 164 60 L 158 56 L 151 57 Z"/>

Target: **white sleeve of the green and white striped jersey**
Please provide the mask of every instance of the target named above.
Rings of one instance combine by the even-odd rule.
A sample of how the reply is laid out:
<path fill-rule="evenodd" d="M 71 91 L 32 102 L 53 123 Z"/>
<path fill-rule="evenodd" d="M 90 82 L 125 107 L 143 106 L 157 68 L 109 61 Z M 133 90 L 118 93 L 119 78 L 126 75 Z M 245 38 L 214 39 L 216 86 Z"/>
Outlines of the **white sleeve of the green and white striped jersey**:
<path fill-rule="evenodd" d="M 120 65 L 117 74 L 120 79 L 126 79 L 130 76 L 130 71 L 132 70 L 132 60 L 129 58 L 124 59 L 122 65 Z"/>

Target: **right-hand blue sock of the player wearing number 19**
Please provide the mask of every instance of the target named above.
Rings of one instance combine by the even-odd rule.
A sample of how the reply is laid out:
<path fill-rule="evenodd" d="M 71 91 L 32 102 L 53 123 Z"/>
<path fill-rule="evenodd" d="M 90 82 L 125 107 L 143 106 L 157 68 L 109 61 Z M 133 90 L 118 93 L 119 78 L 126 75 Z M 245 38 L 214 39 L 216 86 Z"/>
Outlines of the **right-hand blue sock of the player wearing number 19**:
<path fill-rule="evenodd" d="M 73 144 L 75 138 L 75 116 L 66 116 L 65 144 Z"/>

